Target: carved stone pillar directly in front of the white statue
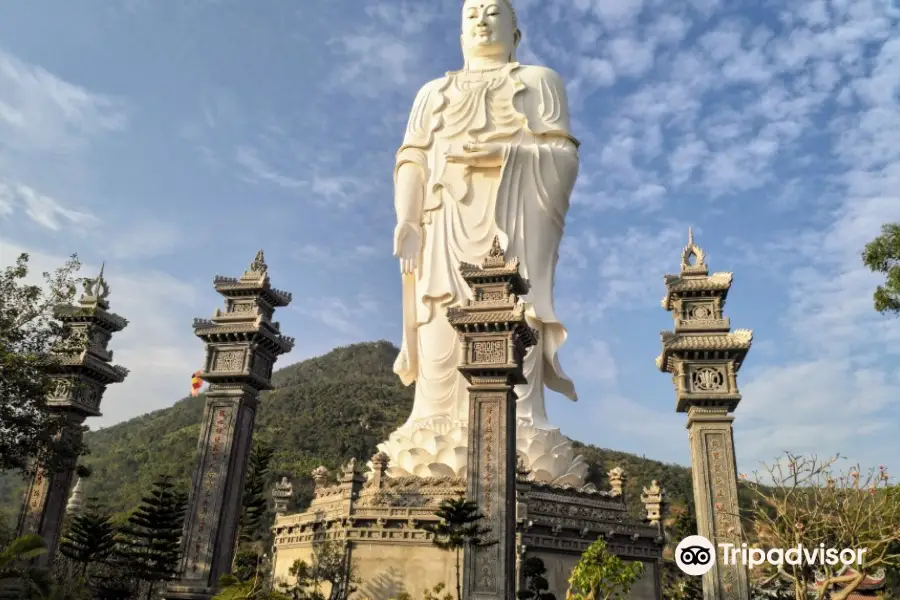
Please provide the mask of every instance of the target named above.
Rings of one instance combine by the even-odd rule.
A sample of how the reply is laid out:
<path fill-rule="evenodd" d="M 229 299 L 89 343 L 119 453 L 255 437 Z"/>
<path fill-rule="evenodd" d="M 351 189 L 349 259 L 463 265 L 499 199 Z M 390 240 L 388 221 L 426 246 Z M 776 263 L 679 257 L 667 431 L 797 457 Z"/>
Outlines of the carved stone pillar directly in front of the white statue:
<path fill-rule="evenodd" d="M 481 267 L 463 264 L 475 300 L 447 317 L 465 349 L 460 371 L 469 381 L 466 495 L 478 504 L 496 544 L 466 548 L 463 597 L 509 600 L 516 591 L 516 393 L 522 362 L 535 344 L 519 295 L 527 286 L 518 261 L 498 239 Z"/>

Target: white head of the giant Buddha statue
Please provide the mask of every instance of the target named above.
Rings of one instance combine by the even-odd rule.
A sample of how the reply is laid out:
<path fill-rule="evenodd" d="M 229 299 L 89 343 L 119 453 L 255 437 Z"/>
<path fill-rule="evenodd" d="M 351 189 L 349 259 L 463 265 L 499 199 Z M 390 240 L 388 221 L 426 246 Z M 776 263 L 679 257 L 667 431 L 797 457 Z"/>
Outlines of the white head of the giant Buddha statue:
<path fill-rule="evenodd" d="M 512 62 L 521 39 L 512 0 L 465 0 L 463 3 L 460 41 L 466 64 L 474 57 Z"/>

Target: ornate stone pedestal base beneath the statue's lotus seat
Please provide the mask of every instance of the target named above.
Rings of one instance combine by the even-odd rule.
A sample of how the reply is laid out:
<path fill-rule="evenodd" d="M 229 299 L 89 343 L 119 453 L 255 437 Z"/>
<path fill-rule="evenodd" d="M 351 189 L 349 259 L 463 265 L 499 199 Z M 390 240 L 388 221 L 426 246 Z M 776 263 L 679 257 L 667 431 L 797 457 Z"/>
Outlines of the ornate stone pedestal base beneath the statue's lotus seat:
<path fill-rule="evenodd" d="M 390 600 L 401 592 L 456 582 L 455 555 L 436 548 L 422 525 L 435 521 L 441 500 L 465 494 L 461 478 L 394 478 L 377 473 L 352 485 L 319 486 L 309 510 L 275 519 L 273 569 L 289 580 L 297 559 L 311 561 L 317 545 L 346 543 L 360 579 L 355 600 Z M 517 562 L 537 556 L 547 567 L 550 591 L 565 598 L 567 580 L 581 553 L 598 537 L 626 560 L 640 560 L 645 575 L 632 589 L 634 600 L 659 600 L 663 541 L 656 526 L 636 521 L 621 496 L 552 484 L 524 484 L 519 490 Z M 327 590 L 323 590 L 327 592 Z"/>

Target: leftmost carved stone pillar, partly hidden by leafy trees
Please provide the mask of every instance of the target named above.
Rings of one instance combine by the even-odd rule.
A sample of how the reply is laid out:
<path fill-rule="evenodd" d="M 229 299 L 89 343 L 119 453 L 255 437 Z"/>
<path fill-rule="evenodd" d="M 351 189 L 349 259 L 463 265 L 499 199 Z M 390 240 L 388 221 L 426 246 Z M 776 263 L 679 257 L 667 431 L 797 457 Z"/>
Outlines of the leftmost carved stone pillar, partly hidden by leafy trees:
<path fill-rule="evenodd" d="M 107 348 L 112 335 L 128 325 L 128 321 L 109 312 L 109 285 L 103 269 L 93 279 L 85 279 L 84 294 L 74 305 L 61 305 L 55 316 L 68 328 L 67 337 L 53 348 L 51 375 L 53 391 L 47 407 L 53 418 L 65 422 L 61 436 L 80 443 L 82 424 L 87 417 L 100 416 L 100 401 L 106 387 L 120 383 L 128 369 L 113 365 L 113 353 Z M 25 492 L 19 517 L 18 534 L 36 534 L 44 538 L 47 552 L 34 562 L 47 566 L 56 557 L 60 529 L 75 476 L 73 459 L 61 468 L 49 470 L 38 462 Z"/>

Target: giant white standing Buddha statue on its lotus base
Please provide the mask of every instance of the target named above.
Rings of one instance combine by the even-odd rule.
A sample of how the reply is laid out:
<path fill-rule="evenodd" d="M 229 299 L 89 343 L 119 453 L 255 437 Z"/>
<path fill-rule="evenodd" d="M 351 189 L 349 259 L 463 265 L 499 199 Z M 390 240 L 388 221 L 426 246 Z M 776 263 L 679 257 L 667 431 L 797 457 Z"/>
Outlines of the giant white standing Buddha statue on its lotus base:
<path fill-rule="evenodd" d="M 539 332 L 516 387 L 517 447 L 537 480 L 581 485 L 587 470 L 550 425 L 544 388 L 576 400 L 557 353 L 566 329 L 553 281 L 578 141 L 562 79 L 515 60 L 521 39 L 510 0 L 466 0 L 459 71 L 416 96 L 394 170 L 394 254 L 403 277 L 404 336 L 395 372 L 416 384 L 408 421 L 380 449 L 394 475 L 462 476 L 468 391 L 449 307 L 471 298 L 461 262 L 481 264 L 495 236 L 531 287 L 527 319 Z"/>

